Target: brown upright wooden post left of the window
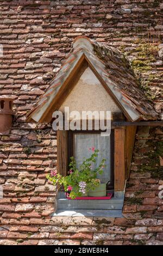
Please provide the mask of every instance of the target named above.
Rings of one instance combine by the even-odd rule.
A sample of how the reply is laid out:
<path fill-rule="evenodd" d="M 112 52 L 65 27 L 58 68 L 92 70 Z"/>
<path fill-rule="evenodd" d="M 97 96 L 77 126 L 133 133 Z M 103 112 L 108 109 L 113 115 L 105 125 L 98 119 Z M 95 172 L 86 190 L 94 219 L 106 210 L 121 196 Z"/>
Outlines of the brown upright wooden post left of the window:
<path fill-rule="evenodd" d="M 67 175 L 67 131 L 57 131 L 57 168 L 58 173 Z"/>

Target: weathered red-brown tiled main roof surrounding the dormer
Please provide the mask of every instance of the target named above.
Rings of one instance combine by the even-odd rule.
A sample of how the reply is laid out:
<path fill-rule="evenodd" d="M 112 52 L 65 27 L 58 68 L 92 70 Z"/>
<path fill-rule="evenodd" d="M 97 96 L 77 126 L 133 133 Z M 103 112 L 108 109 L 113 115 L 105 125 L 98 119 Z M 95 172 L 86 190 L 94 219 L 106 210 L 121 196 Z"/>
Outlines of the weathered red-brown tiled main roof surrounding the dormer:
<path fill-rule="evenodd" d="M 15 95 L 14 124 L 0 137 L 0 243 L 162 244 L 159 127 L 149 134 L 137 132 L 124 218 L 101 220 L 49 216 L 55 193 L 45 177 L 56 164 L 56 135 L 51 125 L 25 122 L 78 35 L 118 47 L 134 60 L 142 87 L 159 112 L 161 1 L 1 1 L 0 9 L 0 94 Z"/>

